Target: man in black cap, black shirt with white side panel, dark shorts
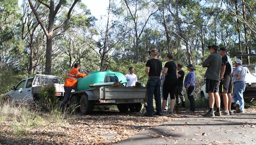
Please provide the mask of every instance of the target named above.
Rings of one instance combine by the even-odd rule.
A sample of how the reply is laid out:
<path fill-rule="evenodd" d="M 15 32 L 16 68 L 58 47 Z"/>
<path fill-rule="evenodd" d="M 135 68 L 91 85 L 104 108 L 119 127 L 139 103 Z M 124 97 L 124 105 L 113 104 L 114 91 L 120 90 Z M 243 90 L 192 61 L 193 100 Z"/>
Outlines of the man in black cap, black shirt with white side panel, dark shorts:
<path fill-rule="evenodd" d="M 225 47 L 220 48 L 219 54 L 222 56 L 219 92 L 223 97 L 223 115 L 233 114 L 231 111 L 231 73 L 233 72 L 232 60 L 227 55 Z"/>

